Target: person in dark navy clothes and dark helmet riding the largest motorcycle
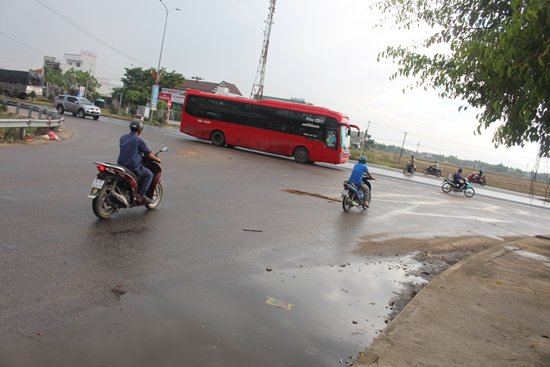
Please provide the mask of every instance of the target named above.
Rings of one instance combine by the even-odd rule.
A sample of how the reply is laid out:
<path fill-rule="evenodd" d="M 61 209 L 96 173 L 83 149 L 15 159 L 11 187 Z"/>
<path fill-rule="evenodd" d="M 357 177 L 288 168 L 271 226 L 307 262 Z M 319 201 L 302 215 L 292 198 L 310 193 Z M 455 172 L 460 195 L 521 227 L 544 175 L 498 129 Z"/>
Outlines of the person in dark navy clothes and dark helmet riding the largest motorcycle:
<path fill-rule="evenodd" d="M 142 155 L 149 159 L 162 163 L 161 160 L 153 154 L 145 144 L 145 141 L 139 137 L 143 131 L 143 123 L 139 120 L 134 120 L 130 123 L 131 132 L 120 137 L 120 153 L 118 155 L 117 163 L 127 167 L 130 171 L 134 172 L 137 176 L 143 177 L 141 184 L 138 187 L 139 201 L 150 201 L 145 196 L 151 181 L 153 181 L 153 172 L 148 168 L 141 165 Z"/>

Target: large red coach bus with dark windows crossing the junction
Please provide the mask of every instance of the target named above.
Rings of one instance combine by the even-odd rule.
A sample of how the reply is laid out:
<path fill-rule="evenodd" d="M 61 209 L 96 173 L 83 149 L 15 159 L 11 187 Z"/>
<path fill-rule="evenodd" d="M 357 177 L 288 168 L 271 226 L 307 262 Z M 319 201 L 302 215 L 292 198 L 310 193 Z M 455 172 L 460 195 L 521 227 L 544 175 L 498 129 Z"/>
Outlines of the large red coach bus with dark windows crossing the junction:
<path fill-rule="evenodd" d="M 297 162 L 346 163 L 349 118 L 327 108 L 265 99 L 262 101 L 187 90 L 182 133 L 232 145 L 293 156 Z"/>

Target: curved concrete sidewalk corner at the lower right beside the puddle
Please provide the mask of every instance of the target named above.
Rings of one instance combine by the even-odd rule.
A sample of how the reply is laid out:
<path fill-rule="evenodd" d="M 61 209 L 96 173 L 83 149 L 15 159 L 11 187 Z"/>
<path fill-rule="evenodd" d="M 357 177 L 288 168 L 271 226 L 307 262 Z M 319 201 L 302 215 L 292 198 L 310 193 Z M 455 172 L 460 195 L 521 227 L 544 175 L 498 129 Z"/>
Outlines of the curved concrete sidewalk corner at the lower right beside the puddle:
<path fill-rule="evenodd" d="M 542 263 L 539 269 L 535 270 L 535 265 L 527 264 L 523 258 L 514 254 L 514 251 L 529 253 L 536 251 L 536 254 L 542 252 L 544 255 L 540 255 L 543 258 L 550 255 L 549 239 L 547 236 L 539 236 L 495 245 L 445 270 L 424 287 L 390 322 L 367 348 L 357 366 L 467 366 L 472 365 L 472 362 L 479 366 L 520 366 L 521 363 L 506 364 L 502 360 L 494 361 L 491 360 L 493 357 L 488 357 L 497 350 L 502 352 L 503 348 L 510 349 L 507 343 L 514 338 L 523 340 L 516 343 L 517 350 L 510 351 L 510 354 L 520 355 L 520 357 L 514 357 L 511 360 L 531 362 L 525 365 L 539 365 L 536 361 L 548 358 L 550 363 L 548 339 L 542 339 L 540 335 L 534 336 L 534 343 L 540 342 L 538 354 L 534 353 L 535 347 L 532 351 L 525 347 L 520 348 L 526 340 L 524 335 L 532 334 L 533 329 L 536 328 L 529 324 L 529 321 L 522 321 L 522 312 L 545 313 L 545 316 L 541 314 L 539 319 L 542 317 L 545 321 L 550 320 L 547 306 L 545 309 L 540 309 L 541 305 L 550 303 L 550 292 L 545 293 L 546 290 L 550 290 L 550 270 L 545 271 L 545 266 L 549 269 L 550 263 Z M 499 265 L 503 261 L 507 264 L 518 263 L 518 267 L 508 269 L 506 266 Z M 527 268 L 524 269 L 525 266 Z M 517 283 L 510 281 L 514 277 L 520 278 Z M 494 282 L 494 279 L 507 280 Z M 537 282 L 538 290 L 533 291 L 529 283 L 530 279 Z M 494 283 L 502 285 L 496 285 L 499 288 L 495 288 Z M 517 294 L 518 298 L 510 297 L 511 292 Z M 483 296 L 480 297 L 482 294 Z M 507 308 L 499 306 L 506 302 L 510 304 Z M 482 303 L 483 306 L 480 307 Z M 513 324 L 513 330 L 517 331 L 515 335 L 507 335 L 509 329 L 493 325 L 496 323 L 497 314 L 507 315 L 506 321 L 510 325 Z M 453 329 L 448 330 L 445 327 L 449 326 L 451 320 L 455 320 L 460 325 L 453 325 Z M 539 322 L 540 320 L 535 322 L 535 326 Z M 507 327 L 511 328 L 510 325 Z M 483 330 L 480 331 L 482 328 Z M 451 335 L 447 335 L 448 332 Z M 487 336 L 488 333 L 492 334 Z M 550 333 L 550 327 L 545 333 L 546 335 Z M 468 353 L 468 349 L 465 349 L 466 351 L 463 350 L 461 355 L 461 347 L 471 345 L 474 342 L 473 338 L 476 337 L 480 338 L 478 341 L 480 347 L 489 347 L 491 350 L 487 353 L 471 351 L 471 355 L 466 357 L 464 354 Z M 503 338 L 508 338 L 508 341 L 501 343 L 500 339 Z M 489 344 L 490 339 L 498 340 L 502 347 L 501 344 L 495 346 L 495 342 Z M 533 343 L 533 341 L 530 342 Z M 456 354 L 463 358 L 465 364 L 455 360 Z"/>

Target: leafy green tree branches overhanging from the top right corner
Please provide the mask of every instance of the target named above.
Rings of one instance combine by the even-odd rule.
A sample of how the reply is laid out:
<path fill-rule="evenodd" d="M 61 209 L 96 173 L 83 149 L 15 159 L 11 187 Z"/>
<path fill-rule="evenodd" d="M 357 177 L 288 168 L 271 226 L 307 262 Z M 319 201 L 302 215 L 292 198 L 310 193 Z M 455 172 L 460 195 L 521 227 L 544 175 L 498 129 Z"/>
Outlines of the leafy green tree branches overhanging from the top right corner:
<path fill-rule="evenodd" d="M 495 146 L 537 142 L 539 156 L 549 157 L 550 2 L 382 0 L 373 7 L 400 29 L 434 29 L 420 43 L 390 46 L 379 55 L 397 60 L 391 79 L 416 77 L 417 87 L 479 108 L 478 133 L 499 124 Z M 449 52 L 432 51 L 441 44 Z"/>

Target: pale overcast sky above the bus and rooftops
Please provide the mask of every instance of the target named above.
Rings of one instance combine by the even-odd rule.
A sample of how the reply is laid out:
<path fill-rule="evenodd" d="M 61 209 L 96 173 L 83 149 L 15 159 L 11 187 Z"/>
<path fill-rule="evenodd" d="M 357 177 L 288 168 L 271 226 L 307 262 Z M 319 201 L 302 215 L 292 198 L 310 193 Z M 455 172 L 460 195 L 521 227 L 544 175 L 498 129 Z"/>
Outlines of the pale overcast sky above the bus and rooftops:
<path fill-rule="evenodd" d="M 277 0 L 264 95 L 304 98 L 347 114 L 376 141 L 532 169 L 537 145 L 495 149 L 493 130 L 477 128 L 476 111 L 434 91 L 389 80 L 396 65 L 377 62 L 389 45 L 426 37 L 390 25 L 369 0 Z M 248 97 L 262 51 L 269 0 L 164 0 L 168 17 L 162 67 L 186 78 L 227 81 Z M 63 16 L 65 19 L 60 17 Z M 43 56 L 97 54 L 96 77 L 120 84 L 125 67 L 156 68 L 166 11 L 159 0 L 0 0 L 0 67 L 42 67 Z M 71 24 L 72 23 L 72 24 Z M 94 37 L 92 37 L 91 35 Z"/>

